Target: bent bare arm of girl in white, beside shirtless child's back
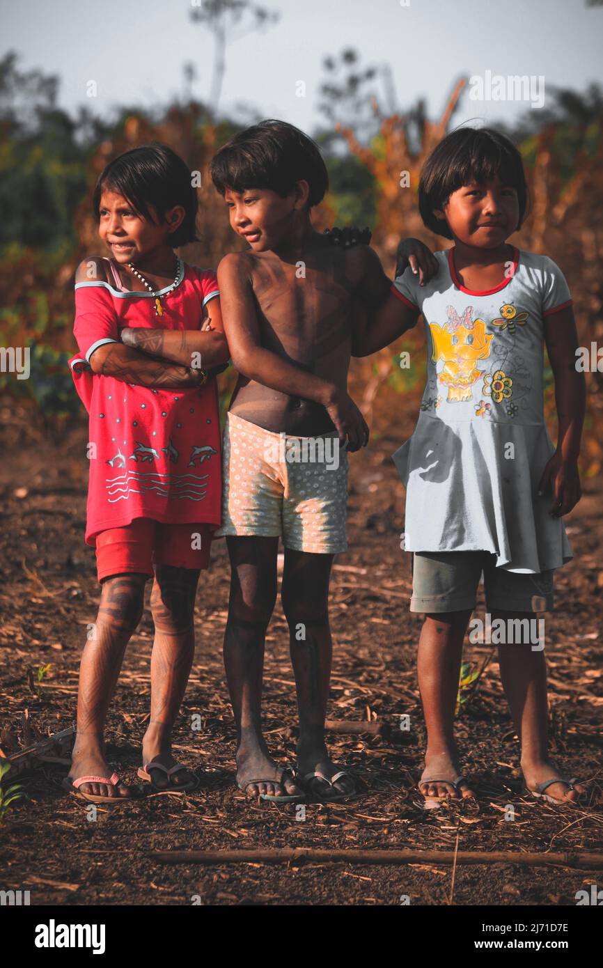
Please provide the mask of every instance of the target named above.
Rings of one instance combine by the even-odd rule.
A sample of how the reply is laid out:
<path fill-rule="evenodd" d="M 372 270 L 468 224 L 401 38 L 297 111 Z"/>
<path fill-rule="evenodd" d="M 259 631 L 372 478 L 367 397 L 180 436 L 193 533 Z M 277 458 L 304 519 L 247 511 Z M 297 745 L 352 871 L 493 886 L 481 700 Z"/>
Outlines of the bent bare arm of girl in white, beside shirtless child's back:
<path fill-rule="evenodd" d="M 411 329 L 419 309 L 395 291 L 374 249 L 357 246 L 346 256 L 348 277 L 355 282 L 354 303 L 359 303 L 352 315 L 351 352 L 369 356 Z"/>

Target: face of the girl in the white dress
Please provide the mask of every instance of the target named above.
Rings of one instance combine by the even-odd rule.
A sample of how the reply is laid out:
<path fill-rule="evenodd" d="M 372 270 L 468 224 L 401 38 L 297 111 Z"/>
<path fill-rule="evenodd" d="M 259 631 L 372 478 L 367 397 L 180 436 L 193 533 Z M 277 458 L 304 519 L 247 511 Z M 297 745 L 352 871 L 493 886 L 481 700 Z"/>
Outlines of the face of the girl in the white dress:
<path fill-rule="evenodd" d="M 519 201 L 516 190 L 497 177 L 486 185 L 464 185 L 435 214 L 446 219 L 457 242 L 496 249 L 518 226 Z"/>

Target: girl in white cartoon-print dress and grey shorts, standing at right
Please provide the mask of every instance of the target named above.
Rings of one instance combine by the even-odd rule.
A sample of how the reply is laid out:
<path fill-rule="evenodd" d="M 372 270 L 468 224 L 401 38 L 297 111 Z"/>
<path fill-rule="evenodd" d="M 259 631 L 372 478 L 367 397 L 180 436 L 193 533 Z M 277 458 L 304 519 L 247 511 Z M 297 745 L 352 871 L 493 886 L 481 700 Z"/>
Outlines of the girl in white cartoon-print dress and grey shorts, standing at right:
<path fill-rule="evenodd" d="M 521 744 L 527 791 L 552 802 L 585 787 L 549 759 L 542 620 L 555 569 L 572 557 L 561 517 L 581 496 L 585 379 L 569 289 L 547 257 L 507 239 L 522 224 L 522 159 L 504 136 L 463 128 L 426 162 L 423 221 L 453 241 L 437 271 L 399 276 L 353 352 L 387 346 L 421 314 L 427 383 L 418 422 L 394 454 L 407 488 L 410 610 L 425 614 L 418 677 L 428 732 L 426 806 L 474 795 L 460 775 L 454 712 L 462 649 L 483 573 L 488 641 Z M 558 443 L 543 412 L 544 345 L 555 376 Z M 545 793 L 546 790 L 546 793 Z"/>

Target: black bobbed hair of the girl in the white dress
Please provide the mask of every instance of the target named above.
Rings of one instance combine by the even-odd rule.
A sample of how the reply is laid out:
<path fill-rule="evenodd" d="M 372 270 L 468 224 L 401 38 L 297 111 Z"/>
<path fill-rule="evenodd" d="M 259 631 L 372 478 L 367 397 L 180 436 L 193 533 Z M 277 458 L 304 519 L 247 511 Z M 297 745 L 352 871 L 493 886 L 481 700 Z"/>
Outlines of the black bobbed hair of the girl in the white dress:
<path fill-rule="evenodd" d="M 492 128 L 457 128 L 442 138 L 422 168 L 419 211 L 423 222 L 437 235 L 451 239 L 447 222 L 438 219 L 434 209 L 442 209 L 464 185 L 473 181 L 485 185 L 496 177 L 517 192 L 519 228 L 528 205 L 528 186 L 518 149 Z"/>

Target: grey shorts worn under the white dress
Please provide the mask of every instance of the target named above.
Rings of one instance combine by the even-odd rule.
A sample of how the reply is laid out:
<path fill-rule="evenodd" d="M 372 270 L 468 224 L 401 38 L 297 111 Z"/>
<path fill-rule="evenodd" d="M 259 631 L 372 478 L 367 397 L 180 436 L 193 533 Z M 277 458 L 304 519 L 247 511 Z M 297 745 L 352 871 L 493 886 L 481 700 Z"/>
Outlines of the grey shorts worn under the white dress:
<path fill-rule="evenodd" d="M 411 612 L 463 612 L 475 608 L 482 572 L 489 611 L 549 612 L 555 569 L 531 574 L 496 567 L 487 551 L 417 551 L 412 555 Z"/>

